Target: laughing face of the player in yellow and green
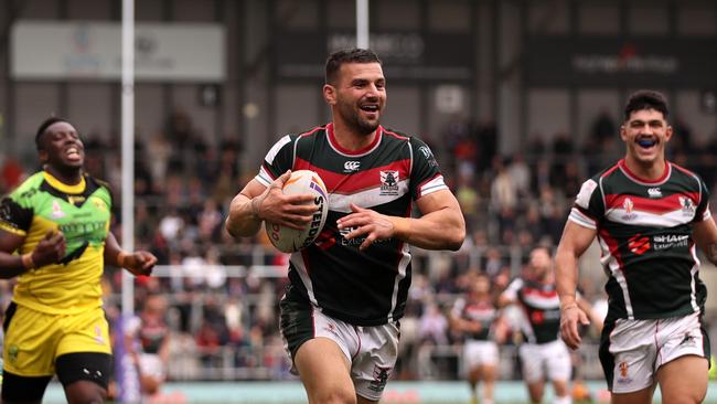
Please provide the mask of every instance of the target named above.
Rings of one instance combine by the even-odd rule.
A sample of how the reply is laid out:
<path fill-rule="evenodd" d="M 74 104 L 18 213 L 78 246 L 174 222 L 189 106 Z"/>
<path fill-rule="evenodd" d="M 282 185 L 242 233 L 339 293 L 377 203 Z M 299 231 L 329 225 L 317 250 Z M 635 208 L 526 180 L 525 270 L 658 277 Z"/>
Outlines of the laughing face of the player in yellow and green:
<path fill-rule="evenodd" d="M 50 125 L 42 135 L 40 145 L 40 160 L 56 171 L 79 170 L 85 162 L 85 147 L 69 123 Z"/>

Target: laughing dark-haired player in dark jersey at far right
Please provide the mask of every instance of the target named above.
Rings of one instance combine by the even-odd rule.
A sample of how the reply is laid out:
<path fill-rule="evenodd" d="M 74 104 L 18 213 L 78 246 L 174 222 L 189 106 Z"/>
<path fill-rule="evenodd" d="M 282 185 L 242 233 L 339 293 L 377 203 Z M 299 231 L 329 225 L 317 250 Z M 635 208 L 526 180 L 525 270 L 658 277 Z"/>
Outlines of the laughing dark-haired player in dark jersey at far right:
<path fill-rule="evenodd" d="M 707 392 L 705 285 L 695 244 L 717 263 L 717 226 L 703 180 L 665 159 L 673 136 L 665 97 L 632 94 L 620 137 L 625 157 L 582 184 L 557 252 L 563 339 L 580 344 L 578 257 L 597 236 L 609 309 L 600 361 L 613 403 L 698 403 Z"/>

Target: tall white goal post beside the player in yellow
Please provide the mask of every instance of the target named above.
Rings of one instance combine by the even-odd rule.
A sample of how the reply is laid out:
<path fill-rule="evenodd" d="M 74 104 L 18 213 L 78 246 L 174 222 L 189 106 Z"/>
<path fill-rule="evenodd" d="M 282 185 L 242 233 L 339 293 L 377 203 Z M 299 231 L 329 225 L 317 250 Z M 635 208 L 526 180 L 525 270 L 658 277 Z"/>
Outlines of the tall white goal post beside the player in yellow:
<path fill-rule="evenodd" d="M 135 251 L 135 0 L 122 0 L 122 248 Z M 135 279 L 122 270 L 122 315 L 135 312 Z"/>

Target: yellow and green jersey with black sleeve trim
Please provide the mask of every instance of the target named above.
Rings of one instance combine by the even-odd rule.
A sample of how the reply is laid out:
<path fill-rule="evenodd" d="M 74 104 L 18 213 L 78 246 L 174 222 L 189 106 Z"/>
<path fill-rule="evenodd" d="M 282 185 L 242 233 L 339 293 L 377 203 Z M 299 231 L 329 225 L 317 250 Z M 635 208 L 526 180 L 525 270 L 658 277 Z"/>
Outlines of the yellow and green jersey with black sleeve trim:
<path fill-rule="evenodd" d="M 18 253 L 32 252 L 49 230 L 65 235 L 65 257 L 18 277 L 13 301 L 38 311 L 69 315 L 101 306 L 100 277 L 109 231 L 111 194 L 89 176 L 67 185 L 45 171 L 0 202 L 0 230 L 25 237 Z"/>

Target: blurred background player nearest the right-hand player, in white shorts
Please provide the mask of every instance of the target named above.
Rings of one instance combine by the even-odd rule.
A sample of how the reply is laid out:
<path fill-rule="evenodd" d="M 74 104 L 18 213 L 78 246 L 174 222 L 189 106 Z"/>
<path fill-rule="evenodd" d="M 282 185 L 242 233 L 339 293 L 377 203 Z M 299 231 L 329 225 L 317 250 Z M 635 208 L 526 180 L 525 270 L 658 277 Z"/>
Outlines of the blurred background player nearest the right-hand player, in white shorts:
<path fill-rule="evenodd" d="M 578 301 L 586 312 L 592 312 L 587 302 Z M 543 401 L 545 381 L 548 379 L 553 383 L 555 403 L 569 404 L 572 361 L 559 338 L 560 301 L 555 288 L 553 259 L 547 248 L 533 249 L 527 276 L 514 279 L 501 294 L 499 307 L 510 304 L 520 304 L 525 315 L 522 322 L 524 341 L 518 355 L 531 402 Z"/>

